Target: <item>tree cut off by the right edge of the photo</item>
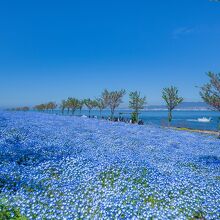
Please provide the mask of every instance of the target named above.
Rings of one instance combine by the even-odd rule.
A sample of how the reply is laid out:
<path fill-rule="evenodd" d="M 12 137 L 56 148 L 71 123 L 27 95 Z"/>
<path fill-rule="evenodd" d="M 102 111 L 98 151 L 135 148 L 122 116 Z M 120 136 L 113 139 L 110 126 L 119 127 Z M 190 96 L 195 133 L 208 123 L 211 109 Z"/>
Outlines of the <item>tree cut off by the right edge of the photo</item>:
<path fill-rule="evenodd" d="M 201 87 L 200 96 L 213 110 L 220 112 L 220 73 L 208 72 L 207 75 L 210 81 Z M 220 117 L 218 129 L 220 130 Z"/>

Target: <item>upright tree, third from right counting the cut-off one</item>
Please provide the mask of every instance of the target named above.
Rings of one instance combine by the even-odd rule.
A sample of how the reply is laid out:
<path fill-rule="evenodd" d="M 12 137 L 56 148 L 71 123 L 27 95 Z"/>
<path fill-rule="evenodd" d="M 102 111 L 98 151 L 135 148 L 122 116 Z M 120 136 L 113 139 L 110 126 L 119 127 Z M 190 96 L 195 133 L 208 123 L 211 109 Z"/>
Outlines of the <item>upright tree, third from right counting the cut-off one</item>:
<path fill-rule="evenodd" d="M 130 92 L 129 94 L 129 108 L 133 109 L 133 122 L 139 121 L 139 111 L 144 109 L 144 104 L 146 104 L 146 97 L 141 98 L 141 94 L 138 91 Z"/>

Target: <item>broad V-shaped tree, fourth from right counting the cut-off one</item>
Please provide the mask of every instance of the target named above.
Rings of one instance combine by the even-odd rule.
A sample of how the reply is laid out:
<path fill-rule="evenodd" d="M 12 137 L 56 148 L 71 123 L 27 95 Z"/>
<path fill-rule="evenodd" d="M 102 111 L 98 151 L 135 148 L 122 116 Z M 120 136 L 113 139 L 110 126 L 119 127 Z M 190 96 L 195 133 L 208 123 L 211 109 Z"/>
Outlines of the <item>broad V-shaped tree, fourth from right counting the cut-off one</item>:
<path fill-rule="evenodd" d="M 115 109 L 122 103 L 122 98 L 125 95 L 125 90 L 109 92 L 105 90 L 103 92 L 104 102 L 111 110 L 111 119 L 114 118 Z"/>

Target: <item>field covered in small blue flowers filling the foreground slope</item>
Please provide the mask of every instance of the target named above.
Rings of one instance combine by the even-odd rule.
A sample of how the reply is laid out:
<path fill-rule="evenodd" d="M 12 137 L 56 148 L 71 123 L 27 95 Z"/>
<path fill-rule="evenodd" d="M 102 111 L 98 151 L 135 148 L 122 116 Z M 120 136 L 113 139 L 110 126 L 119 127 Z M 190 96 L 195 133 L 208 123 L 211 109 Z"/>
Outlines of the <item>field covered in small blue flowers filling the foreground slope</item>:
<path fill-rule="evenodd" d="M 0 113 L 0 216 L 220 219 L 219 210 L 220 140 L 214 137 Z"/>

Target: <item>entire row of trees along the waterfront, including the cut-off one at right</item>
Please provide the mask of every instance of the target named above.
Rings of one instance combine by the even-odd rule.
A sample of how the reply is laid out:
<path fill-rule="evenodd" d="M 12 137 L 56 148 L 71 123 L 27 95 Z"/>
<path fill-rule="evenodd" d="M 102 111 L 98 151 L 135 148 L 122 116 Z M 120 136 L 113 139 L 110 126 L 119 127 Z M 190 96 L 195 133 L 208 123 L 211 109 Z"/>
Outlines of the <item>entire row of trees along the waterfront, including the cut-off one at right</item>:
<path fill-rule="evenodd" d="M 200 96 L 209 106 L 211 106 L 214 110 L 220 111 L 220 74 L 215 74 L 213 72 L 209 72 L 209 83 L 200 87 Z M 61 109 L 62 114 L 67 110 L 68 114 L 70 111 L 74 115 L 76 110 L 80 111 L 84 106 L 86 106 L 89 110 L 89 116 L 91 116 L 91 110 L 94 108 L 99 109 L 100 117 L 102 115 L 102 111 L 106 108 L 110 109 L 111 119 L 114 118 L 115 109 L 120 106 L 123 102 L 123 96 L 126 94 L 125 90 L 119 91 L 108 91 L 105 89 L 99 98 L 94 100 L 92 99 L 84 99 L 79 100 L 77 98 L 69 97 L 66 100 L 62 100 L 59 108 Z M 179 96 L 178 89 L 174 86 L 164 88 L 162 91 L 162 98 L 166 102 L 168 109 L 168 121 L 172 121 L 172 111 L 183 101 L 183 98 Z M 146 97 L 141 96 L 140 92 L 130 92 L 129 93 L 129 108 L 133 110 L 132 112 L 132 121 L 139 121 L 140 110 L 144 109 L 146 104 Z M 58 105 L 55 102 L 48 102 L 46 104 L 36 105 L 34 107 L 35 110 L 38 111 L 54 111 Z M 28 111 L 29 107 L 20 107 L 14 109 L 16 111 Z"/>

